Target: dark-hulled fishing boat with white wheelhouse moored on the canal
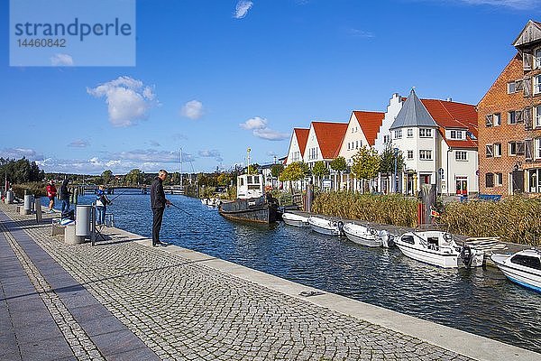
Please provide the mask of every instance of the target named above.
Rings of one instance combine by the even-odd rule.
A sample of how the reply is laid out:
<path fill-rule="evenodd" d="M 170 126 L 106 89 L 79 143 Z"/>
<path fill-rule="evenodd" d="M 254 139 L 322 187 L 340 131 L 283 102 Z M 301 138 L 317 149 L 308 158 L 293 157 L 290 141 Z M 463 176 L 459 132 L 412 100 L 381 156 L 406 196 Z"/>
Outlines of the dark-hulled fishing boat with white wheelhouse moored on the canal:
<path fill-rule="evenodd" d="M 263 192 L 261 174 L 237 177 L 237 199 L 220 205 L 218 211 L 227 219 L 257 223 L 272 223 L 280 218 L 277 199 Z"/>

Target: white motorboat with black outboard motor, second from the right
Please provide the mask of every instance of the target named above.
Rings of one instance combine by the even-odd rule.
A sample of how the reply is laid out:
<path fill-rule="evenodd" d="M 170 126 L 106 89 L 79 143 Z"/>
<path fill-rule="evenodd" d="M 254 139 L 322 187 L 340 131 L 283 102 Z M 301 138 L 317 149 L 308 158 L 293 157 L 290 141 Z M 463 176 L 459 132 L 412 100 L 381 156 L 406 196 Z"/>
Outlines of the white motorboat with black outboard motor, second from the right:
<path fill-rule="evenodd" d="M 441 231 L 408 232 L 394 240 L 400 251 L 417 261 L 444 268 L 477 267 L 484 253 L 469 245 L 458 245 L 453 236 Z"/>

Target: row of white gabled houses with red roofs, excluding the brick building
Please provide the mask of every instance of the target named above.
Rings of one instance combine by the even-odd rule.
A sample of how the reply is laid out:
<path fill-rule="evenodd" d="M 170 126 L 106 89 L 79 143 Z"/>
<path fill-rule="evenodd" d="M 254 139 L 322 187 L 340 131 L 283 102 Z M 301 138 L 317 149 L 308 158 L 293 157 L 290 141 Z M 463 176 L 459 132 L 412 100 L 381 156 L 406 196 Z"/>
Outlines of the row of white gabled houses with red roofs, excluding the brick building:
<path fill-rule="evenodd" d="M 382 153 L 398 148 L 404 168 L 395 181 L 378 177 L 376 191 L 415 194 L 422 184 L 436 184 L 442 193 L 477 191 L 477 113 L 474 106 L 447 100 L 419 99 L 393 94 L 386 112 L 353 111 L 348 123 L 312 122 L 295 128 L 286 164 L 330 163 L 344 157 L 348 166 L 362 146 Z M 332 175 L 334 189 L 360 190 L 349 174 Z M 398 187 L 398 188 L 397 188 Z"/>

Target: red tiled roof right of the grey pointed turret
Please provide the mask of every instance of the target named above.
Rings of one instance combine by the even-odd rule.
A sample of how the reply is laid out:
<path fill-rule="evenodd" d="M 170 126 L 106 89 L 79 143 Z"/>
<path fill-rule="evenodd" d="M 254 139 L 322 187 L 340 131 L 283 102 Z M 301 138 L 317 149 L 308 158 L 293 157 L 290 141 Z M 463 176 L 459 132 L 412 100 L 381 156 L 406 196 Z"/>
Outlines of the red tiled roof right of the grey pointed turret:
<path fill-rule="evenodd" d="M 444 129 L 440 132 L 445 138 L 445 128 L 466 128 L 477 138 L 477 110 L 470 104 L 456 103 L 439 99 L 421 99 L 421 102 L 436 121 Z M 467 137 L 465 140 L 445 139 L 450 147 L 477 148 L 477 139 Z"/>

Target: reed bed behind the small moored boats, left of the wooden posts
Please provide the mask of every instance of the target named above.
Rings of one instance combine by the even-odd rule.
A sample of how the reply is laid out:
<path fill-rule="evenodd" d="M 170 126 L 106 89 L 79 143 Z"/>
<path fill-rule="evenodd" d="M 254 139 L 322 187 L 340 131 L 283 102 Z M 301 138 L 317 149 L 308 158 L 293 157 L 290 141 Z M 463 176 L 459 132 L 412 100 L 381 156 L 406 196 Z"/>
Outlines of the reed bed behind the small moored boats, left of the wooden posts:
<path fill-rule="evenodd" d="M 333 191 L 317 195 L 312 205 L 316 213 L 362 219 L 399 227 L 417 226 L 417 200 L 401 194 L 373 195 Z"/>

